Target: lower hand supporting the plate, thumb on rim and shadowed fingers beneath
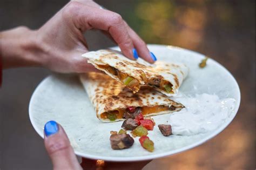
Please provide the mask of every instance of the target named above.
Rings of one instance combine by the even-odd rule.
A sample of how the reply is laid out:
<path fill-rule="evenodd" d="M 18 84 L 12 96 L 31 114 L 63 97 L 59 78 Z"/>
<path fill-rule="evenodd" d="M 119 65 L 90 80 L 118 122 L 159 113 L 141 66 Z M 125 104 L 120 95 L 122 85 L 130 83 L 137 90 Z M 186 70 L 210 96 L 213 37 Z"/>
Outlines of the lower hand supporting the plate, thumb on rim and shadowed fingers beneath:
<path fill-rule="evenodd" d="M 79 165 L 70 141 L 62 126 L 56 121 L 48 121 L 44 126 L 44 145 L 52 161 L 53 169 L 142 169 L 150 161 L 141 162 L 104 162 L 84 159 Z"/>

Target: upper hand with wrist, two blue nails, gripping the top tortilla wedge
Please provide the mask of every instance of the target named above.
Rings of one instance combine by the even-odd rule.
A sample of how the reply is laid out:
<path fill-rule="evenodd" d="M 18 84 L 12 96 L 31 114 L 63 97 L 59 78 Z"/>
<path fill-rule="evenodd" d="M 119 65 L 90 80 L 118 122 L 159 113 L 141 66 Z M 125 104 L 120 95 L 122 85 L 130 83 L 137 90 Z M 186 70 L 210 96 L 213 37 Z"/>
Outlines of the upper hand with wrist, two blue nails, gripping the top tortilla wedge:
<path fill-rule="evenodd" d="M 127 58 L 140 56 L 150 63 L 156 60 L 119 14 L 100 9 L 93 1 L 80 0 L 68 3 L 38 30 L 22 27 L 1 32 L 3 67 L 43 66 L 63 73 L 96 71 L 81 57 L 87 52 L 83 33 L 90 29 L 110 35 Z"/>

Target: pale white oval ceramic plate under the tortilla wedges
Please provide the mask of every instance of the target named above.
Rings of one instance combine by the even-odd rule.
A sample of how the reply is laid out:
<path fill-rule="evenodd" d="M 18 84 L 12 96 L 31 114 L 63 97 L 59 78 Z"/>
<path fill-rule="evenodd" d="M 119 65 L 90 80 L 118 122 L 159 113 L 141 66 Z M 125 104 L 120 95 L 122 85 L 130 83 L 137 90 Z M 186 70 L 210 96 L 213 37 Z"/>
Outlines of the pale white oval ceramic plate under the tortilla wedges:
<path fill-rule="evenodd" d="M 118 49 L 113 47 L 113 49 Z M 129 149 L 113 150 L 110 146 L 110 131 L 119 131 L 122 121 L 103 123 L 96 118 L 96 112 L 76 75 L 55 74 L 45 78 L 33 93 L 30 105 L 30 120 L 36 132 L 43 138 L 44 124 L 55 120 L 61 124 L 77 155 L 90 159 L 107 161 L 139 161 L 156 159 L 186 151 L 213 138 L 231 123 L 240 104 L 240 91 L 234 77 L 225 67 L 208 59 L 207 66 L 200 69 L 198 64 L 205 56 L 197 52 L 166 45 L 149 45 L 158 60 L 185 63 L 190 73 L 179 92 L 196 94 L 217 94 L 220 99 L 233 98 L 235 107 L 230 117 L 215 131 L 193 135 L 170 135 L 164 137 L 158 127 L 149 131 L 154 141 L 154 152 L 143 149 L 135 138 Z M 156 124 L 166 124 L 170 114 L 154 116 Z"/>

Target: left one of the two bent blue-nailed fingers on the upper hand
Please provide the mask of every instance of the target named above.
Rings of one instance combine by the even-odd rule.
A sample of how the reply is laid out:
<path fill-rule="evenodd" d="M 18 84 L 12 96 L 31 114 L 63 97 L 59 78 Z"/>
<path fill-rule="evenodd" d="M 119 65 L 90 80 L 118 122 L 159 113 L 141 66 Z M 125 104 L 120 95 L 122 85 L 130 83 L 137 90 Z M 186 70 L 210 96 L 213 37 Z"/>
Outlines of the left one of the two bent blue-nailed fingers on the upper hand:
<path fill-rule="evenodd" d="M 107 31 L 127 58 L 135 59 L 133 43 L 122 17 L 109 10 L 92 8 L 79 2 L 69 3 L 63 9 L 66 19 L 71 17 L 76 28 L 85 31 L 92 28 Z"/>

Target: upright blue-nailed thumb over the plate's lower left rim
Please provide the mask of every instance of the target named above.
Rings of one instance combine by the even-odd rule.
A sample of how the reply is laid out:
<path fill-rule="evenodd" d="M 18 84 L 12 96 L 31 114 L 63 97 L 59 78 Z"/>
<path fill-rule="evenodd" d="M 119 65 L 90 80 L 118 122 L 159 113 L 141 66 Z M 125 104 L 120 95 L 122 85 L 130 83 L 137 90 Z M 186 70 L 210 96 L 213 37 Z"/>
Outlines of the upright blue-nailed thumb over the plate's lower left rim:
<path fill-rule="evenodd" d="M 82 169 L 68 136 L 56 121 L 48 121 L 44 126 L 44 145 L 53 164 L 53 169 Z"/>

